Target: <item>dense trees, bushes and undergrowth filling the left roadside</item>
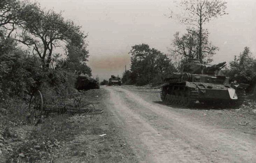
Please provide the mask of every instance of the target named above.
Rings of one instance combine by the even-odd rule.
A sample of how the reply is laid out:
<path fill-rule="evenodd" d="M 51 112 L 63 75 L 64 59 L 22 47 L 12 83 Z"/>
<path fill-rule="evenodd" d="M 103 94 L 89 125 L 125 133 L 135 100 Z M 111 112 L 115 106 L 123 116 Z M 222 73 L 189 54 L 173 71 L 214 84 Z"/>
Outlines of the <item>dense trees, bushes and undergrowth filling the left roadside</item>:
<path fill-rule="evenodd" d="M 0 162 L 49 160 L 60 141 L 72 138 L 75 126 L 63 116 L 30 126 L 28 101 L 35 90 L 47 104 L 77 98 L 77 74 L 92 75 L 86 64 L 87 34 L 38 3 L 2 0 L 0 13 Z M 55 53 L 63 46 L 64 54 Z"/>

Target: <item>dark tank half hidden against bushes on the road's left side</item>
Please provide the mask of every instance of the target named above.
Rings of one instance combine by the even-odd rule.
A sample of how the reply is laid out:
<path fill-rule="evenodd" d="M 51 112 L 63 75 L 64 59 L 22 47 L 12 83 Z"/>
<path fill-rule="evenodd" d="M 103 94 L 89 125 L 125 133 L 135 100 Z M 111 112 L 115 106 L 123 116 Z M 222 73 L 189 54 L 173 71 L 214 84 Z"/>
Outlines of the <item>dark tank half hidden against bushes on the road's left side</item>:
<path fill-rule="evenodd" d="M 75 87 L 79 91 L 86 91 L 91 89 L 99 89 L 99 82 L 93 78 L 87 77 L 85 75 L 78 75 L 75 83 Z"/>

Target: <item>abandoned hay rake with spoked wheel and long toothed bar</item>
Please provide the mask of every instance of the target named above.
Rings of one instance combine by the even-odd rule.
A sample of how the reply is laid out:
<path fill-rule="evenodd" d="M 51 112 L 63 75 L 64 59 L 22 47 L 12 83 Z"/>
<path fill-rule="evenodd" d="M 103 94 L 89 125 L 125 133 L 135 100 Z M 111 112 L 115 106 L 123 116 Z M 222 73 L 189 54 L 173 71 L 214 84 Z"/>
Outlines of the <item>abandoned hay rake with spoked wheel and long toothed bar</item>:
<path fill-rule="evenodd" d="M 103 110 L 95 109 L 92 103 L 85 104 L 81 107 L 74 107 L 70 104 L 44 104 L 43 95 L 39 90 L 31 95 L 29 110 L 28 121 L 32 125 L 38 124 L 43 117 L 48 116 L 50 113 L 74 115 L 78 113 L 100 114 L 103 112 Z"/>

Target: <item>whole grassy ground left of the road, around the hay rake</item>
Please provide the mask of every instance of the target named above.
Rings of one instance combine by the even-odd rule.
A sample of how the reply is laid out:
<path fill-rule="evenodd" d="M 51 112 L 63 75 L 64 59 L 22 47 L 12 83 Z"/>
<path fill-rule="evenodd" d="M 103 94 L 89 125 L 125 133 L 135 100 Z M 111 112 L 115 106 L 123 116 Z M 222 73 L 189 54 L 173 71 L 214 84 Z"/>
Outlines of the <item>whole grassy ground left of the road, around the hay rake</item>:
<path fill-rule="evenodd" d="M 49 88 L 48 88 L 49 89 Z M 48 90 L 43 95 L 51 96 L 48 103 L 65 102 L 73 105 L 95 104 L 97 109 L 106 109 L 103 90 L 73 92 L 61 96 Z M 76 99 L 76 100 L 74 100 Z M 10 102 L 9 113 L 2 118 L 5 123 L 3 163 L 70 163 L 70 162 L 137 162 L 136 156 L 119 133 L 107 111 L 102 114 L 50 114 L 36 126 L 28 124 L 28 104 L 24 100 Z M 13 113 L 16 112 L 16 113 Z M 15 119 L 16 118 L 16 119 Z M 22 123 L 18 123 L 21 121 Z M 3 125 L 4 124 L 4 125 Z M 0 130 L 1 130 L 0 129 Z M 105 136 L 100 136 L 106 134 Z"/>

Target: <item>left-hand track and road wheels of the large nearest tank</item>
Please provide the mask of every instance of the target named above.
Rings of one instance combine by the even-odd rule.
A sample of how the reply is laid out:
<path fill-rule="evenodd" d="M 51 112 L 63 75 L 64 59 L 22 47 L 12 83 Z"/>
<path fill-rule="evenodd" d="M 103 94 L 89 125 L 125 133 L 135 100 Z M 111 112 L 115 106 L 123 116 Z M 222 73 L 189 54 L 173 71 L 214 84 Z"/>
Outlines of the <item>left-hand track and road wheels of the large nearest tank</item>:
<path fill-rule="evenodd" d="M 198 99 L 198 90 L 183 89 L 184 91 L 167 93 L 168 86 L 161 87 L 160 97 L 163 102 L 177 104 L 185 107 L 194 107 L 195 101 Z M 183 87 L 184 88 L 184 87 Z"/>

